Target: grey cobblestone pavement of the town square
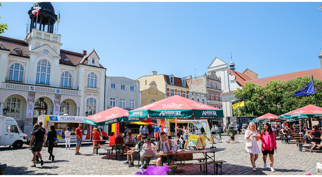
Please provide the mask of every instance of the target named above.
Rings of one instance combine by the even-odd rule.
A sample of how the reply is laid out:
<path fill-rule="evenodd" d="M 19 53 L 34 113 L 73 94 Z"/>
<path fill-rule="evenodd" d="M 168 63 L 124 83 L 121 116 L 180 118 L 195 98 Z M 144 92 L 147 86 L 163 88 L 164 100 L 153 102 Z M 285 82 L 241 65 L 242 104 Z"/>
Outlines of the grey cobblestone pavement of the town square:
<path fill-rule="evenodd" d="M 253 172 L 249 160 L 249 154 L 244 152 L 245 140 L 244 135 L 239 136 L 240 143 L 226 143 L 228 136 L 222 136 L 223 143 L 214 144 L 219 152 L 215 153 L 216 160 L 225 160 L 223 164 L 224 175 L 301 175 L 301 174 L 321 174 L 316 172 L 316 163 L 322 162 L 321 151 L 310 153 L 307 146 L 303 146 L 303 152 L 298 151 L 296 144 L 282 144 L 277 141 L 278 152 L 274 155 L 274 168 L 276 172 L 270 169 L 263 169 L 262 154 L 256 161 L 257 171 Z M 258 142 L 259 147 L 260 142 Z M 207 147 L 211 144 L 207 143 Z M 75 143 L 72 143 L 71 150 L 66 150 L 64 145 L 54 147 L 53 154 L 55 161 L 49 161 L 47 147 L 43 148 L 42 155 L 44 165 L 40 162 L 36 163 L 36 168 L 32 165 L 32 153 L 28 150 L 28 146 L 24 145 L 20 149 L 9 148 L 7 146 L 0 147 L 0 163 L 7 164 L 8 169 L 6 175 L 26 175 L 26 174 L 59 174 L 59 175 L 131 175 L 135 174 L 139 169 L 137 167 L 128 168 L 123 164 L 126 158 L 120 161 L 107 159 L 107 154 L 103 149 L 99 149 L 99 155 L 92 153 L 90 144 L 83 144 L 80 152 L 82 155 L 75 155 Z M 194 157 L 202 154 L 194 154 Z M 269 166 L 269 158 L 267 159 Z M 137 159 L 134 164 L 137 164 Z M 177 175 L 213 175 L 213 165 L 208 165 L 208 173 L 199 172 L 199 166 L 187 166 L 182 173 Z"/>

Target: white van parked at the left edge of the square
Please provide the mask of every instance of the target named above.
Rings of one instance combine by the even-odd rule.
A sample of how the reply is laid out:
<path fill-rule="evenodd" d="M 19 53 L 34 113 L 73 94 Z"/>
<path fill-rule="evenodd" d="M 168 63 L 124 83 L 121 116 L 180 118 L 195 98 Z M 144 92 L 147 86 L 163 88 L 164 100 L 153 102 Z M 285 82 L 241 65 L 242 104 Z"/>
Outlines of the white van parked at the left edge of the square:
<path fill-rule="evenodd" d="M 14 118 L 0 116 L 0 146 L 13 146 L 20 148 L 27 141 Z"/>

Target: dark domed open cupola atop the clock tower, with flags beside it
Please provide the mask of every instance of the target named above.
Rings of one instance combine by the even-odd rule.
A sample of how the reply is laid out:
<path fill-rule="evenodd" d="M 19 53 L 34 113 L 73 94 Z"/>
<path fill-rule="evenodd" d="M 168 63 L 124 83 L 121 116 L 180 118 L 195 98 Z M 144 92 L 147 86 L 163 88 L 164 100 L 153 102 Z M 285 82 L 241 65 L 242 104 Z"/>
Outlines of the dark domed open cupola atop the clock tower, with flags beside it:
<path fill-rule="evenodd" d="M 34 17 L 32 13 L 33 10 L 37 9 L 39 6 L 38 18 Z M 48 33 L 54 33 L 54 24 L 57 21 L 58 17 L 55 14 L 55 9 L 50 2 L 35 2 L 33 7 L 28 11 L 30 16 L 30 31 L 33 28 L 39 29 L 40 31 L 46 31 Z M 38 25 L 39 24 L 39 25 Z"/>

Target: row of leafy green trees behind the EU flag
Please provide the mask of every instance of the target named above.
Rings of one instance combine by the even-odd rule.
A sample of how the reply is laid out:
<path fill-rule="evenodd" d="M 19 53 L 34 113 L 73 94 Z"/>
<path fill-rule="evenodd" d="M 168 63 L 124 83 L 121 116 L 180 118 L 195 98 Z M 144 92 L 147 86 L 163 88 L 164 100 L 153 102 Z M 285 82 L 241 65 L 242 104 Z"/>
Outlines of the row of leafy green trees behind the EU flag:
<path fill-rule="evenodd" d="M 277 103 L 280 102 L 281 114 L 298 109 L 308 104 L 315 105 L 314 94 L 304 96 L 294 96 L 294 92 L 303 89 L 311 78 L 308 76 L 283 81 L 270 81 L 265 87 L 247 82 L 242 89 L 237 89 L 236 98 L 245 95 L 247 116 L 261 116 L 267 113 L 279 115 Z M 322 105 L 322 82 L 314 79 L 317 105 Z M 233 110 L 235 116 L 245 116 L 244 107 Z"/>

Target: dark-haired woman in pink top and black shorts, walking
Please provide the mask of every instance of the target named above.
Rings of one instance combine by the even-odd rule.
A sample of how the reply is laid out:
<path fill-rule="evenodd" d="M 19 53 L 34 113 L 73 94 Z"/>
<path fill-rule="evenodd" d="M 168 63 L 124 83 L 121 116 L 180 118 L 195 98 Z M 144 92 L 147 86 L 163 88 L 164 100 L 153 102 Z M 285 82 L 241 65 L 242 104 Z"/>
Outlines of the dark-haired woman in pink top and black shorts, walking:
<path fill-rule="evenodd" d="M 269 123 L 264 124 L 263 130 L 260 132 L 260 137 L 259 139 L 262 141 L 262 153 L 263 153 L 263 161 L 264 161 L 264 169 L 267 168 L 266 165 L 266 159 L 267 155 L 270 156 L 270 170 L 272 172 L 275 172 L 273 168 L 273 163 L 274 163 L 274 149 L 277 149 L 276 146 L 276 139 L 274 136 L 274 132 L 272 131 L 272 128 L 270 127 Z"/>

